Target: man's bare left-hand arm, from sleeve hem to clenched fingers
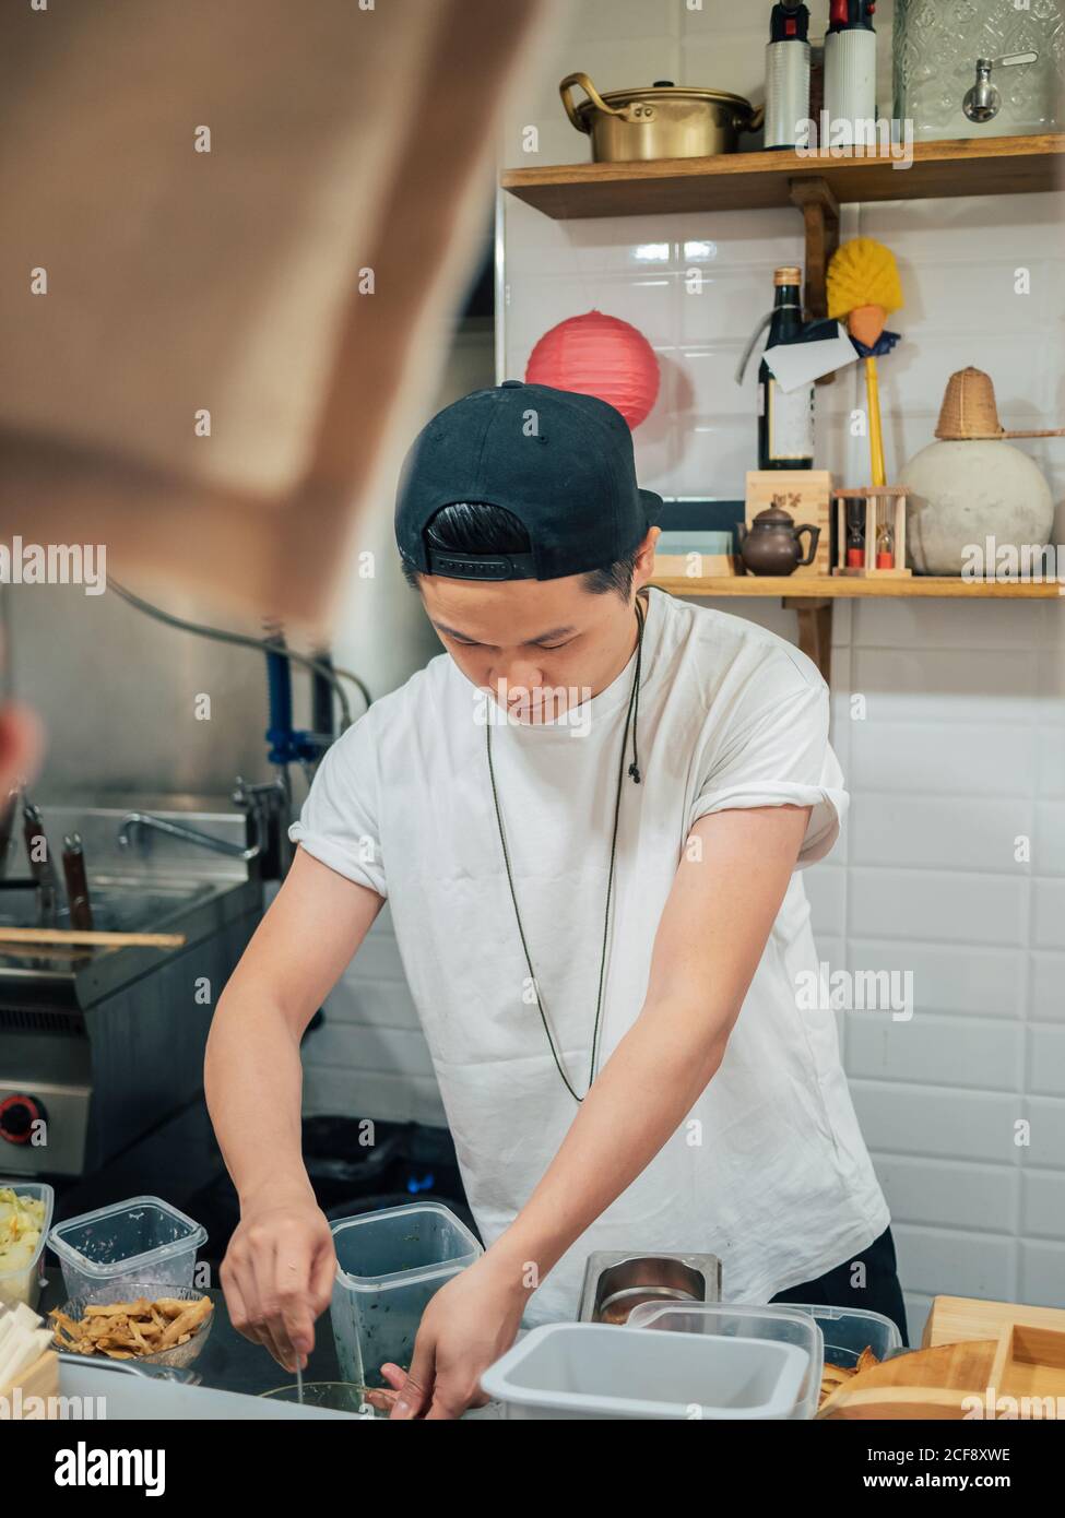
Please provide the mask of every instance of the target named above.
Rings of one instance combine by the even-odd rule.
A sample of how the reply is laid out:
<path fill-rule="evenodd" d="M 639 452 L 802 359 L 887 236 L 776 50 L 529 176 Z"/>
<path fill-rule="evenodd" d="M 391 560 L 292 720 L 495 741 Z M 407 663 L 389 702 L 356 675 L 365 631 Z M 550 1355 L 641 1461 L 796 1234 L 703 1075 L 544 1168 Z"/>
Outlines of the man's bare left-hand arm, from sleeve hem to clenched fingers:
<path fill-rule="evenodd" d="M 384 899 L 296 852 L 219 999 L 204 1090 L 240 1225 L 220 1271 L 234 1327 L 292 1366 L 314 1346 L 336 1255 L 301 1154 L 299 1040 Z"/>

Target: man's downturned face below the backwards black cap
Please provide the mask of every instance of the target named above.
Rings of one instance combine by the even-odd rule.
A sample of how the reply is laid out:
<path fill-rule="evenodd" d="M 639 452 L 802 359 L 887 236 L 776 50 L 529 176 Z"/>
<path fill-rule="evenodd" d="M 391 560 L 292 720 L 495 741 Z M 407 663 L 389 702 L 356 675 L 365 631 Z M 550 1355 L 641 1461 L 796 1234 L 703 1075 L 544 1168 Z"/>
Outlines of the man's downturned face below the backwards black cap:
<path fill-rule="evenodd" d="M 465 677 L 491 689 L 517 721 L 558 721 L 605 689 L 635 647 L 635 592 L 653 571 L 652 528 L 627 600 L 562 580 L 419 578 L 441 642 Z"/>

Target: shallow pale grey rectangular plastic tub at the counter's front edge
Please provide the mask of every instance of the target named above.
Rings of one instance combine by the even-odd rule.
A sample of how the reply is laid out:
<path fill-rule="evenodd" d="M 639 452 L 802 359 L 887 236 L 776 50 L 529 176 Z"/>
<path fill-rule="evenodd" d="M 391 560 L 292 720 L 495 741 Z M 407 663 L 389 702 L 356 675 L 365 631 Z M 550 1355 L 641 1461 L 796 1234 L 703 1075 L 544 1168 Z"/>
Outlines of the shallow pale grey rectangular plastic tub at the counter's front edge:
<path fill-rule="evenodd" d="M 545 1324 L 480 1384 L 510 1419 L 746 1421 L 788 1418 L 808 1375 L 782 1340 Z"/>

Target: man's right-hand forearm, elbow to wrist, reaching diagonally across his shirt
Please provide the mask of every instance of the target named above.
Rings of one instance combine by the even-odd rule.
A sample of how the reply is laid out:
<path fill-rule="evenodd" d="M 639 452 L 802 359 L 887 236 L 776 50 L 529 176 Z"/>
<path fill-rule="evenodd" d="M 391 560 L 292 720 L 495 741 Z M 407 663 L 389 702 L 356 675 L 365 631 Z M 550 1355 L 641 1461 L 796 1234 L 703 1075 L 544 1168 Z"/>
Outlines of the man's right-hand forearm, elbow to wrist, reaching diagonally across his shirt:
<path fill-rule="evenodd" d="M 646 1170 L 722 1063 L 732 1017 L 664 1002 L 644 1006 L 585 1098 L 559 1152 L 489 1255 L 541 1281 Z M 719 1031 L 716 1031 L 719 1029 Z"/>

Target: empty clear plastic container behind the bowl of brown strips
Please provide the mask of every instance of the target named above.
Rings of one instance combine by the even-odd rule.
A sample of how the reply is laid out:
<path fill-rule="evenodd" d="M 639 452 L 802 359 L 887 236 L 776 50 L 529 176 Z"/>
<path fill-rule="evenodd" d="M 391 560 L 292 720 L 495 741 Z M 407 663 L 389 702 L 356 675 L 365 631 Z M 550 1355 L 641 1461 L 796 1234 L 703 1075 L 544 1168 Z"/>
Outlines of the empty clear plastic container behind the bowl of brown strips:
<path fill-rule="evenodd" d="M 207 1228 L 160 1196 L 132 1196 L 56 1224 L 49 1246 L 59 1255 L 67 1296 L 117 1299 L 126 1287 L 191 1286 Z"/>

